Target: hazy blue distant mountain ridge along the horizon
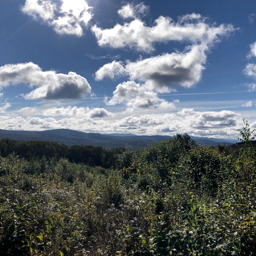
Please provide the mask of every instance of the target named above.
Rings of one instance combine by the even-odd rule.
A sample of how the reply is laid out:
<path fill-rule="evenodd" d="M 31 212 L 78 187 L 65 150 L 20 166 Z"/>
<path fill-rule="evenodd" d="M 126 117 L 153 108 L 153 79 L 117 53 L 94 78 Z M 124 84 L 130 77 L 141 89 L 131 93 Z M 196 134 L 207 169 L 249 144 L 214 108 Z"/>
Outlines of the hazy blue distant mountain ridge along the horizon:
<path fill-rule="evenodd" d="M 114 133 L 116 134 L 116 133 Z M 118 133 L 117 133 L 118 134 Z M 77 132 L 68 129 L 56 129 L 47 130 L 41 132 L 30 132 L 30 131 L 9 131 L 0 129 L 0 139 L 9 138 L 11 140 L 44 140 L 44 141 L 55 141 L 60 144 L 67 146 L 72 145 L 92 145 L 102 146 L 105 148 L 117 148 L 117 147 L 128 147 L 131 150 L 135 150 L 138 147 L 145 148 L 148 145 L 155 144 L 160 140 L 171 140 L 171 136 L 162 135 L 141 135 L 137 136 L 132 133 L 129 134 L 100 134 L 100 133 L 87 133 Z M 203 146 L 216 146 L 218 143 L 232 145 L 234 142 L 228 142 L 227 140 L 214 139 L 214 138 L 200 138 L 193 137 L 196 142 Z M 237 141 L 236 141 L 237 142 Z M 235 142 L 235 143 L 236 143 Z"/>

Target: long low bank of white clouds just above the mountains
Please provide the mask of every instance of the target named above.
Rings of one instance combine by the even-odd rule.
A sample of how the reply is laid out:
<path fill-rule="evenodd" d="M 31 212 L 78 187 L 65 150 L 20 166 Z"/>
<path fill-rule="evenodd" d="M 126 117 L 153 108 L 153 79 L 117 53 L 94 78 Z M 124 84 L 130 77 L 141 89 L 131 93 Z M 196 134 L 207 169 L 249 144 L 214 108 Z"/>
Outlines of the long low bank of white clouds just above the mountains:
<path fill-rule="evenodd" d="M 36 109 L 20 110 L 20 113 L 33 114 Z M 50 108 L 41 112 L 42 116 L 0 116 L 1 129 L 6 130 L 45 130 L 67 128 L 91 132 L 132 132 L 136 134 L 175 134 L 188 132 L 191 135 L 214 137 L 236 137 L 236 130 L 242 127 L 241 115 L 232 111 L 195 111 L 184 108 L 176 113 L 144 114 L 111 119 L 97 118 L 103 109 Z M 67 115 L 65 118 L 52 116 Z M 109 115 L 109 114 L 107 114 Z M 111 115 L 111 114 L 110 114 Z"/>

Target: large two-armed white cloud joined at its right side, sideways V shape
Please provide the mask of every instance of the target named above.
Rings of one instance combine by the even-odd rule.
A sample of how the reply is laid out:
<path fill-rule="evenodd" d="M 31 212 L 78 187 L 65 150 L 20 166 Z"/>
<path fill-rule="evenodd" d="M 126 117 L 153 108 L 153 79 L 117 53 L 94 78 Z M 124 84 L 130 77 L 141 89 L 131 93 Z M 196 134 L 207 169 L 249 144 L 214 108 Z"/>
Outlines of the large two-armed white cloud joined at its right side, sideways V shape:
<path fill-rule="evenodd" d="M 98 43 L 113 48 L 130 47 L 142 51 L 154 50 L 155 42 L 188 41 L 191 45 L 183 51 L 163 53 L 137 61 L 126 60 L 107 63 L 95 73 L 96 80 L 104 77 L 128 76 L 129 80 L 143 82 L 148 89 L 168 92 L 173 85 L 190 88 L 200 81 L 207 53 L 211 46 L 236 29 L 232 25 L 209 25 L 199 14 L 187 14 L 174 22 L 169 17 L 159 17 L 153 27 L 135 19 L 124 26 L 102 30 L 94 26 Z"/>

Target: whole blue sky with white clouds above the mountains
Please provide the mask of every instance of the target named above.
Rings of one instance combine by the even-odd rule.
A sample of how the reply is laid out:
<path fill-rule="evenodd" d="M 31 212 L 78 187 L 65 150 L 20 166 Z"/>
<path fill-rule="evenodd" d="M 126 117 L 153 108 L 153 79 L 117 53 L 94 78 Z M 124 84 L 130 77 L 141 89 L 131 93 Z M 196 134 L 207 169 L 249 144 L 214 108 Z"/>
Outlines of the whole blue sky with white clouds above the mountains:
<path fill-rule="evenodd" d="M 236 139 L 256 1 L 1 0 L 0 129 Z"/>

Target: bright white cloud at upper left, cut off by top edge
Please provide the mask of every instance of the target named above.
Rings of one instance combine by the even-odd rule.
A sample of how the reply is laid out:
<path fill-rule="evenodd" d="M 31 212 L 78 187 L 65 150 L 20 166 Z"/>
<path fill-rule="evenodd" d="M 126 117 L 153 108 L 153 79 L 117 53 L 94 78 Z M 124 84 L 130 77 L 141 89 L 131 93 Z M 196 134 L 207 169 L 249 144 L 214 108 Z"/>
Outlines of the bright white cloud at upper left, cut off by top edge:
<path fill-rule="evenodd" d="M 60 35 L 83 36 L 83 27 L 93 16 L 92 7 L 85 0 L 26 0 L 21 11 Z"/>

